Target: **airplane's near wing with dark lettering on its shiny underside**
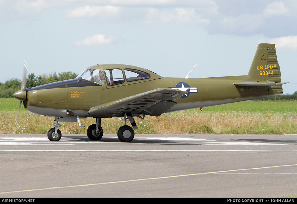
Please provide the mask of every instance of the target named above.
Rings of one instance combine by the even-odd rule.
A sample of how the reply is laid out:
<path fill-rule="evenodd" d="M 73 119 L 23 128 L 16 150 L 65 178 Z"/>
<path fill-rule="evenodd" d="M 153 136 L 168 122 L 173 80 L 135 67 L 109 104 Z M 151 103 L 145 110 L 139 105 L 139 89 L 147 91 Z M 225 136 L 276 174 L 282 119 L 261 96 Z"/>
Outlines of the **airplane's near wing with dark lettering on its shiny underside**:
<path fill-rule="evenodd" d="M 159 116 L 176 104 L 172 100 L 178 99 L 186 93 L 188 92 L 170 88 L 158 88 L 94 106 L 89 109 L 89 114 L 94 117 L 123 117 L 125 112 L 129 112 L 138 117 L 141 114 Z"/>

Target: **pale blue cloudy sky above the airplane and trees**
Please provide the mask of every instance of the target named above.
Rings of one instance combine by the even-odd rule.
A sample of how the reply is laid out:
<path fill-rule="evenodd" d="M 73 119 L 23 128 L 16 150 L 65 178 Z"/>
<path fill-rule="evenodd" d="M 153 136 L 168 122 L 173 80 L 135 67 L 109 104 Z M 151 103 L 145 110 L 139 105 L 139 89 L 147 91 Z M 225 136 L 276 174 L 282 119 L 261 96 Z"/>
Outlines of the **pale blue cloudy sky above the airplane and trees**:
<path fill-rule="evenodd" d="M 276 46 L 284 94 L 297 90 L 296 0 L 0 0 L 0 82 L 108 63 L 164 77 L 247 75 Z"/>

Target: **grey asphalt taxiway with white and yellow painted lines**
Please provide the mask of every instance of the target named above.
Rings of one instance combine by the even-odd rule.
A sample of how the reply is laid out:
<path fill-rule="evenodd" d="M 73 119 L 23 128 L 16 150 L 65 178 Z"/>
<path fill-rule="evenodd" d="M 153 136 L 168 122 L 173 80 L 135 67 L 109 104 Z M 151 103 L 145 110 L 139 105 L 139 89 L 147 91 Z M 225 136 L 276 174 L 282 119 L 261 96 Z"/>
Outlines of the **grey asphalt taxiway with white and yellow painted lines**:
<path fill-rule="evenodd" d="M 0 197 L 297 195 L 296 135 L 0 135 Z"/>

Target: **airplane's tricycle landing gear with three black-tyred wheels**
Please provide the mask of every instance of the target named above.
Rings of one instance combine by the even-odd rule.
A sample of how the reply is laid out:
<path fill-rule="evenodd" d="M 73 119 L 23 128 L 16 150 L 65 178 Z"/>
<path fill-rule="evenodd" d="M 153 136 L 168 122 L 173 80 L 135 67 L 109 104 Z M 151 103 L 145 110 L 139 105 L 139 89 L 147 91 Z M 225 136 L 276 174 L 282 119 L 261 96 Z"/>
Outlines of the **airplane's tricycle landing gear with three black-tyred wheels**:
<path fill-rule="evenodd" d="M 58 127 L 61 127 L 58 123 L 59 117 L 55 118 L 55 126 L 48 131 L 48 139 L 50 141 L 59 141 L 62 137 L 61 131 Z M 79 119 L 79 118 L 78 118 Z M 129 119 L 132 127 L 126 125 L 127 119 Z M 80 122 L 80 121 L 79 121 Z M 80 126 L 84 127 L 84 126 Z M 136 122 L 131 113 L 125 113 L 124 125 L 118 130 L 118 138 L 121 142 L 131 142 L 134 138 L 134 130 L 138 129 Z M 87 136 L 90 140 L 100 140 L 103 136 L 103 128 L 101 127 L 101 118 L 96 118 L 96 124 L 90 125 L 87 130 Z"/>

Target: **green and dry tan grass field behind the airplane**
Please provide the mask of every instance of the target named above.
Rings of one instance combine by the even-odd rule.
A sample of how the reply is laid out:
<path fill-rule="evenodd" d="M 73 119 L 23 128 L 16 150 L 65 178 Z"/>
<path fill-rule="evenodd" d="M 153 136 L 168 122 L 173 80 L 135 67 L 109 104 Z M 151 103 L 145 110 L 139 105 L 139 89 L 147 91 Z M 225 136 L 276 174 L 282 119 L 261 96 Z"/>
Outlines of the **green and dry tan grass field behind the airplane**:
<path fill-rule="evenodd" d="M 19 127 L 15 125 L 19 101 L 0 98 L 0 134 L 45 134 L 53 127 L 53 117 L 38 116 L 21 107 Z M 135 118 L 135 134 L 297 134 L 297 101 L 243 101 L 219 106 Z M 62 134 L 86 134 L 95 119 L 61 122 Z M 129 122 L 127 122 L 130 125 Z M 116 134 L 123 118 L 102 119 L 104 133 Z"/>

